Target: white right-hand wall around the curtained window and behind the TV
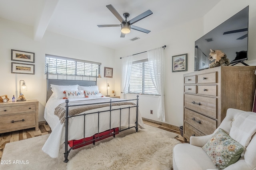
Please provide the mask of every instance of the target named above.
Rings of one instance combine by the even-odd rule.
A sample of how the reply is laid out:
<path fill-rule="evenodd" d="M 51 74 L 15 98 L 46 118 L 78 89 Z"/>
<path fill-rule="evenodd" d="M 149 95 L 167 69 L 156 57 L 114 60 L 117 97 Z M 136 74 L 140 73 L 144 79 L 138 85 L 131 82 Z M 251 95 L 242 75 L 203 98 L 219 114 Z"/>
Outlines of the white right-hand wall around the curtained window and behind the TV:
<path fill-rule="evenodd" d="M 116 50 L 116 65 L 118 65 L 116 71 L 120 72 L 121 69 L 120 57 L 166 45 L 167 47 L 164 50 L 166 63 L 164 96 L 166 123 L 181 126 L 183 125 L 183 74 L 194 71 L 194 42 L 248 5 L 250 13 L 249 60 L 246 61 L 246 63 L 256 65 L 256 55 L 254 55 L 256 54 L 256 48 L 254 47 L 256 44 L 256 1 L 243 0 L 234 2 L 232 0 L 221 0 L 203 18 L 195 19 L 194 21 L 183 23 L 181 25 L 176 25 L 166 29 L 166 31 L 162 31 L 161 33 L 149 35 L 148 39 L 139 39 L 135 44 L 127 45 L 124 48 Z M 172 72 L 172 56 L 184 53 L 188 53 L 188 71 Z M 117 74 L 117 76 L 120 78 L 120 74 Z M 120 84 L 120 80 L 116 80 L 115 84 L 117 88 Z M 129 95 L 126 97 L 130 98 Z M 158 99 L 152 96 L 142 97 L 141 95 L 139 98 L 139 108 L 142 117 L 160 121 L 156 116 L 156 103 Z M 150 109 L 153 109 L 153 115 L 150 115 Z"/>

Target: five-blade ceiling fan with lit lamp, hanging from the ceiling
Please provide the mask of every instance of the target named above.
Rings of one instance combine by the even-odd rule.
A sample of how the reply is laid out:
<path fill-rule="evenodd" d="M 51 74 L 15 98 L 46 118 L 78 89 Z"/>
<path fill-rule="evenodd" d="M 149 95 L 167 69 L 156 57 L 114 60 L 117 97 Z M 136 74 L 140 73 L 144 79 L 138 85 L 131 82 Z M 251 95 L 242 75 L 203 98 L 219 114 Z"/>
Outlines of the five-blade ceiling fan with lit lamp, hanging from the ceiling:
<path fill-rule="evenodd" d="M 120 27 L 121 26 L 121 35 L 120 37 L 125 37 L 125 34 L 130 33 L 130 29 L 134 29 L 137 31 L 141 31 L 144 33 L 149 33 L 150 30 L 141 28 L 141 27 L 137 27 L 135 25 L 132 25 L 140 20 L 142 20 L 143 18 L 146 18 L 147 16 L 150 16 L 151 14 L 153 14 L 153 12 L 151 10 L 147 10 L 146 12 L 143 12 L 142 14 L 136 16 L 135 18 L 132 18 L 132 20 L 127 21 L 127 18 L 130 16 L 129 13 L 124 13 L 123 16 L 125 18 L 125 20 L 122 18 L 122 16 L 120 16 L 120 14 L 116 11 L 116 9 L 110 4 L 106 6 L 110 12 L 112 12 L 114 14 L 114 16 L 116 16 L 116 18 L 121 22 L 121 24 L 110 24 L 110 25 L 98 25 L 98 27 Z"/>

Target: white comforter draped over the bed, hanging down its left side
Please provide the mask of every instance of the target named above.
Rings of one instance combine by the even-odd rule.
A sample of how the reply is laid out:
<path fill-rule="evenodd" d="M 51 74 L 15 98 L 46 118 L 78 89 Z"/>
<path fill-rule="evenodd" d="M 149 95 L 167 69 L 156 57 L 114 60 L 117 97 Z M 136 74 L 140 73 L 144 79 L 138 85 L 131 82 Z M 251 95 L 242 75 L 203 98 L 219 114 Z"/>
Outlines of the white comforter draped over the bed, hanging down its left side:
<path fill-rule="evenodd" d="M 70 101 L 76 100 L 88 100 L 90 102 L 91 98 L 78 98 L 78 99 L 70 99 Z M 97 98 L 98 99 L 98 98 Z M 114 98 L 101 98 L 103 100 L 112 99 L 112 101 L 119 100 Z M 49 138 L 47 139 L 46 143 L 42 147 L 42 150 L 48 154 L 52 158 L 58 157 L 58 153 L 60 151 L 60 145 L 65 142 L 65 127 L 64 123 L 61 124 L 59 118 L 54 115 L 55 108 L 65 102 L 64 99 L 49 99 L 46 103 L 45 110 L 44 110 L 44 118 L 50 125 L 52 129 L 52 133 L 50 134 Z M 136 101 L 134 101 L 136 102 Z M 127 106 L 134 106 L 134 105 L 121 105 L 121 106 L 112 106 L 112 109 L 120 108 L 120 107 L 127 107 Z M 93 109 L 90 111 L 85 111 L 84 113 L 91 113 L 93 111 L 104 111 L 108 110 L 109 107 L 101 107 L 98 109 Z M 100 125 L 99 125 L 99 132 L 106 131 L 110 129 L 110 113 L 102 112 L 100 113 Z M 130 108 L 130 125 L 134 126 L 134 122 L 136 121 L 136 107 Z M 86 130 L 85 130 L 85 137 L 91 137 L 92 135 L 98 133 L 98 114 L 91 114 L 86 115 Z M 122 109 L 121 114 L 121 126 L 128 125 L 128 109 Z M 112 111 L 111 112 L 111 128 L 119 127 L 120 126 L 120 110 Z M 84 138 L 84 117 L 72 117 L 69 119 L 69 126 L 68 126 L 68 140 L 77 140 Z M 142 121 L 142 117 L 140 112 L 138 114 L 138 127 L 144 128 L 144 124 Z M 63 150 L 62 150 L 63 152 Z"/>

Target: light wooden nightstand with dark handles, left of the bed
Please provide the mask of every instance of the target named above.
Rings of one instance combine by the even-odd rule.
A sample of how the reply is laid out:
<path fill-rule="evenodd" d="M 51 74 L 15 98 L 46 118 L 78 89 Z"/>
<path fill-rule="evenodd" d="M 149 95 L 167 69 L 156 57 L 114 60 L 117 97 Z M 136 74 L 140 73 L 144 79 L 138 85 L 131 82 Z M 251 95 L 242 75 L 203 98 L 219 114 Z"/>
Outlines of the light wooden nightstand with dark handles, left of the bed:
<path fill-rule="evenodd" d="M 0 133 L 35 127 L 38 131 L 38 100 L 0 103 Z"/>

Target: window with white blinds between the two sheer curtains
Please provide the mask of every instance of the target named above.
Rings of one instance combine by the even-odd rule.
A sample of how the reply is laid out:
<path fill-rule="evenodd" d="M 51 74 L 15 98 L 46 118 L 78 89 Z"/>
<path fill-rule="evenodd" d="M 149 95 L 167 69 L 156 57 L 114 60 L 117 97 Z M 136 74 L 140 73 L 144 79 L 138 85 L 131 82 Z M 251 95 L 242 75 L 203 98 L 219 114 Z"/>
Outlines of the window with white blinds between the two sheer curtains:
<path fill-rule="evenodd" d="M 128 93 L 158 95 L 152 82 L 148 59 L 132 63 Z"/>

